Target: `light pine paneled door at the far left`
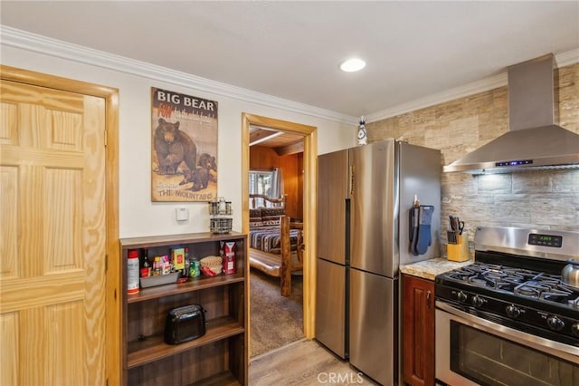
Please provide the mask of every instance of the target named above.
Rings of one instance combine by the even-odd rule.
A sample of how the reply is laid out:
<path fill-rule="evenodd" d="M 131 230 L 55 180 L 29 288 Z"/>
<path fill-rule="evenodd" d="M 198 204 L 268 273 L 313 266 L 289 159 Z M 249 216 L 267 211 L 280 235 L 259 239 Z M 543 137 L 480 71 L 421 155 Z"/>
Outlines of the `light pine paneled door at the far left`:
<path fill-rule="evenodd" d="M 0 86 L 0 384 L 104 384 L 105 101 Z"/>

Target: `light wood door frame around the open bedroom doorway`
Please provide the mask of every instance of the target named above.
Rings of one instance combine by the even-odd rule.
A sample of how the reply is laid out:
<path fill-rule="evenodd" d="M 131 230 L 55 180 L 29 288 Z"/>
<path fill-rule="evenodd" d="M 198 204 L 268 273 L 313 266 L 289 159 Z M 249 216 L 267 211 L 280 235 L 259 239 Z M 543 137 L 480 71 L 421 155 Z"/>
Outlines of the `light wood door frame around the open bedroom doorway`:
<path fill-rule="evenodd" d="M 315 229 L 316 216 L 316 159 L 318 157 L 318 132 L 314 126 L 302 125 L 289 121 L 261 117 L 248 113 L 242 113 L 242 232 L 249 233 L 249 165 L 250 165 L 250 126 L 257 125 L 289 133 L 297 133 L 303 136 L 303 221 L 304 221 L 304 256 L 303 256 L 303 331 L 307 339 L 314 337 L 314 310 L 316 294 L 316 265 Z M 246 251 L 246 256 L 249 252 Z M 248 263 L 249 265 L 249 263 Z M 249 274 L 249 268 L 248 268 Z M 248 291 L 249 295 L 249 291 Z M 251 296 L 249 296 L 251 303 Z M 248 315 L 251 321 L 251 315 Z M 250 324 L 250 323 L 248 323 Z"/>

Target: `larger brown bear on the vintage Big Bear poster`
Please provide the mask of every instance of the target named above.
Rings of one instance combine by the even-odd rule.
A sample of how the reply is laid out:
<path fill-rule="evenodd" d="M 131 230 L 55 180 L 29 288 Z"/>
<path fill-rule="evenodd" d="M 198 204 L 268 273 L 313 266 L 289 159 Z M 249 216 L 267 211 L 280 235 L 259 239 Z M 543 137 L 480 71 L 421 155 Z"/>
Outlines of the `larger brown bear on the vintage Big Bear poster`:
<path fill-rule="evenodd" d="M 197 147 L 184 131 L 179 130 L 179 121 L 170 123 L 160 118 L 154 146 L 157 151 L 157 174 L 176 174 L 184 161 L 187 168 L 195 170 Z"/>

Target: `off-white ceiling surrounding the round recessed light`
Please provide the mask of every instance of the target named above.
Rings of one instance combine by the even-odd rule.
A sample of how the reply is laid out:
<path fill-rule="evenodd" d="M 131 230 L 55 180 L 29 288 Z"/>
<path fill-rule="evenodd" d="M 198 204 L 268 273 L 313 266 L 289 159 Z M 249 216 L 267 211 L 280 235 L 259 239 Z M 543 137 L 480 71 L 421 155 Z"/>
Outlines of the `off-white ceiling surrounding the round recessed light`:
<path fill-rule="evenodd" d="M 354 117 L 579 48 L 577 1 L 0 6 L 6 26 Z M 365 70 L 340 72 L 352 55 Z"/>

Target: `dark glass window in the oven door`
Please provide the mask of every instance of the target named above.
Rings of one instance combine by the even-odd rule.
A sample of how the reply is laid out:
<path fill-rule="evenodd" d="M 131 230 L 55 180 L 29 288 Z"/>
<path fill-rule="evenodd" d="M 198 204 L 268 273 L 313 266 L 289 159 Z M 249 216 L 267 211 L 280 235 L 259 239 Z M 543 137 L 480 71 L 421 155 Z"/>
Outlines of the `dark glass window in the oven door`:
<path fill-rule="evenodd" d="M 579 366 L 451 321 L 451 371 L 481 385 L 579 386 Z"/>

